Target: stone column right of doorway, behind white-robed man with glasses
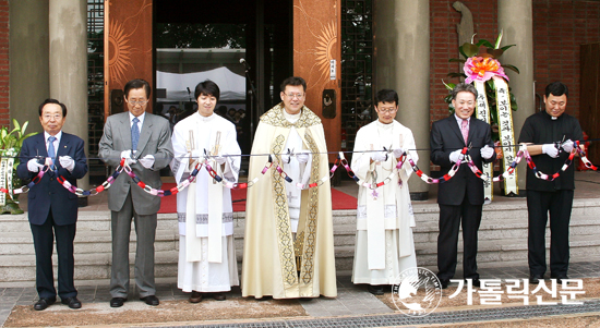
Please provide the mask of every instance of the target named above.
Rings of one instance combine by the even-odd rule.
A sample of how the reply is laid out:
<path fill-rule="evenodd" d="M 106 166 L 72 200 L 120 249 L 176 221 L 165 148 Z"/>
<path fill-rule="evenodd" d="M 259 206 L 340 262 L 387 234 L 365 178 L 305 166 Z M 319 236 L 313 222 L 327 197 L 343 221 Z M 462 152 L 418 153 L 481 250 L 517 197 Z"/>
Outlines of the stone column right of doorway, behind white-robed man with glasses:
<path fill-rule="evenodd" d="M 376 1 L 374 17 L 373 93 L 398 93 L 396 119 L 412 131 L 417 148 L 429 149 L 429 0 Z M 419 151 L 418 165 L 429 174 L 429 150 Z M 427 199 L 429 185 L 419 178 L 410 179 L 409 189 L 413 199 Z"/>

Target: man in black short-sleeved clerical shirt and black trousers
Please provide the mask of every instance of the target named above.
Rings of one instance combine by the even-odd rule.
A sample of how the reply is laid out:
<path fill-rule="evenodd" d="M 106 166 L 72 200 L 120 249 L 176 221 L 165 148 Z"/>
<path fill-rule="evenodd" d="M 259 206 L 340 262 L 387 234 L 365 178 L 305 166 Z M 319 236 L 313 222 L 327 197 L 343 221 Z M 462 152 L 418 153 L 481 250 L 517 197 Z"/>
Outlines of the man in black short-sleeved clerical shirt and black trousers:
<path fill-rule="evenodd" d="M 565 113 L 568 88 L 561 82 L 545 87 L 545 110 L 537 112 L 523 124 L 519 143 L 527 150 L 539 171 L 559 172 L 571 151 L 574 141 L 581 141 L 584 132 L 579 121 Z M 561 142 L 560 144 L 555 144 Z M 569 166 L 553 181 L 538 179 L 527 168 L 528 262 L 529 282 L 539 283 L 545 274 L 545 226 L 550 214 L 550 278 L 568 279 L 568 223 L 573 208 L 575 169 Z"/>

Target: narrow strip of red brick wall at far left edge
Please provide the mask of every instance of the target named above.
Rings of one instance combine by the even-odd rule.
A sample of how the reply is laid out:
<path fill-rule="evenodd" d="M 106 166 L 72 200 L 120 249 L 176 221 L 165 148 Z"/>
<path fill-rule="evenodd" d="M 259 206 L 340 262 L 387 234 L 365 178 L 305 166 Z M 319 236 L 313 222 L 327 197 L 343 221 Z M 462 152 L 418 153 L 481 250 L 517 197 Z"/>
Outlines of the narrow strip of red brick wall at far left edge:
<path fill-rule="evenodd" d="M 0 0 L 0 126 L 10 124 L 9 73 L 9 0 Z"/>

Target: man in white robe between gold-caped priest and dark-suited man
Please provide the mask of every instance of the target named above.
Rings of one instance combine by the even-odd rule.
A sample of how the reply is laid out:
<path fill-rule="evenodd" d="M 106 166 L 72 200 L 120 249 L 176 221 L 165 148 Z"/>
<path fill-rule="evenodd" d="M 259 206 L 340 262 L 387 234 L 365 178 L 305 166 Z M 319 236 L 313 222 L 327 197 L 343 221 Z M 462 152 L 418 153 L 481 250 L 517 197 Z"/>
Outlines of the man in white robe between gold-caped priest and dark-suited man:
<path fill-rule="evenodd" d="M 408 192 L 412 169 L 407 160 L 394 170 L 405 151 L 415 162 L 419 156 L 410 129 L 394 120 L 398 94 L 382 89 L 375 104 L 377 120 L 358 131 L 351 163 L 360 182 L 371 185 L 361 184 L 358 193 L 352 282 L 368 283 L 371 293 L 381 295 L 384 286 L 394 284 L 403 270 L 417 267 Z M 387 178 L 387 183 L 375 187 Z"/>

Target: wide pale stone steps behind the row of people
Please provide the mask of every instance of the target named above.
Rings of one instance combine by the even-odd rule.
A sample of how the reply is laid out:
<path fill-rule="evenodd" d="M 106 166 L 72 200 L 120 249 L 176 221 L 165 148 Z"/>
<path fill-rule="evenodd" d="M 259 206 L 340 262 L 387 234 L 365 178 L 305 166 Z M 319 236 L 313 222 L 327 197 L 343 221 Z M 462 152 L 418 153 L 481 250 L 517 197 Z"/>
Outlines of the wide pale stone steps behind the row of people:
<path fill-rule="evenodd" d="M 527 265 L 527 210 L 525 201 L 494 203 L 483 207 L 479 232 L 478 263 L 481 267 L 502 263 Z M 435 204 L 413 203 L 417 227 L 413 229 L 419 266 L 436 265 L 439 209 Z M 575 199 L 571 221 L 571 258 L 586 260 L 600 256 L 600 199 Z M 235 244 L 241 269 L 244 214 L 236 212 Z M 352 269 L 356 240 L 356 210 L 333 214 L 336 269 Z M 156 277 L 177 277 L 179 236 L 175 214 L 158 215 L 156 233 Z M 547 232 L 550 235 L 550 232 Z M 135 252 L 132 229 L 130 262 Z M 461 252 L 461 242 L 458 246 Z M 34 281 L 35 256 L 26 214 L 0 216 L 0 282 Z M 458 255 L 459 263 L 461 254 Z M 110 277 L 111 236 L 109 211 L 80 211 L 75 238 L 75 279 L 105 280 Z M 56 269 L 56 255 L 55 255 Z M 132 266 L 133 270 L 133 266 Z M 133 277 L 133 274 L 132 274 Z"/>

